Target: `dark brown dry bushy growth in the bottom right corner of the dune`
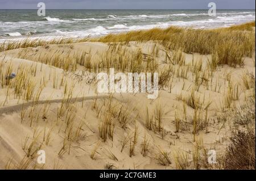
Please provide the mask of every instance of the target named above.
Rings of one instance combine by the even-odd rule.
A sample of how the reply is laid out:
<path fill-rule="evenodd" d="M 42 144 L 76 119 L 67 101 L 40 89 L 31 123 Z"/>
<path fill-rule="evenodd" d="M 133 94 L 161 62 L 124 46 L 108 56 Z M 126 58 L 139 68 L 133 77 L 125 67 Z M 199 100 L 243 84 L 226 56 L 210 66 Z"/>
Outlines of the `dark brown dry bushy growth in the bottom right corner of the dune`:
<path fill-rule="evenodd" d="M 234 126 L 224 155 L 224 169 L 255 170 L 255 98 L 233 108 L 229 115 Z"/>

